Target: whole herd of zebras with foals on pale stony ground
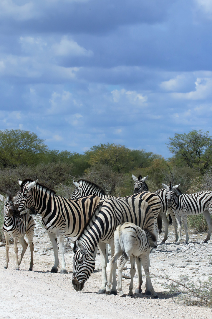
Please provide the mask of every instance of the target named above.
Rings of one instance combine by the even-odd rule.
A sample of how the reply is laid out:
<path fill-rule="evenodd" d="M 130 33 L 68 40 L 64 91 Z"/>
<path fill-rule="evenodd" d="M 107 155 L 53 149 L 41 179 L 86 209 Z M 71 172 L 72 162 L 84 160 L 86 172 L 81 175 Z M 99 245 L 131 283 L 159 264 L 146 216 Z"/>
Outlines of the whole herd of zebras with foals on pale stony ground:
<path fill-rule="evenodd" d="M 77 237 L 73 246 L 73 277 L 72 284 L 76 291 L 82 290 L 86 280 L 91 276 L 95 268 L 95 256 L 99 248 L 102 265 L 102 286 L 99 293 L 117 294 L 116 261 L 118 263 L 118 291 L 123 295 L 121 288 L 121 273 L 124 264 L 130 258 L 131 284 L 129 294 L 132 294 L 132 282 L 135 273 L 134 261 L 138 269 L 138 285 L 135 293 L 140 293 L 142 285 L 141 265 L 145 270 L 146 294 L 157 293 L 149 277 L 149 253 L 150 247 L 157 247 L 158 233 L 161 232 L 162 220 L 165 226 L 165 235 L 162 242 L 168 238 L 168 219 L 172 220 L 176 235 L 176 244 L 182 240 L 181 218 L 186 232 L 188 243 L 187 215 L 201 214 L 206 218 L 209 232 L 204 242 L 208 242 L 212 231 L 212 192 L 201 191 L 195 194 L 181 194 L 178 186 L 162 184 L 163 189 L 152 193 L 148 191 L 146 180 L 148 176 L 138 178 L 132 175 L 134 180 L 134 194 L 127 197 L 113 197 L 105 194 L 98 185 L 86 181 L 73 181 L 76 188 L 69 199 L 56 196 L 52 189 L 25 179 L 19 180 L 20 189 L 16 197 L 3 197 L 4 202 L 4 234 L 6 239 L 6 263 L 9 262 L 9 238 L 14 238 L 14 251 L 16 253 L 16 269 L 27 248 L 24 240 L 26 234 L 31 250 L 30 270 L 33 267 L 33 242 L 34 220 L 31 215 L 22 213 L 26 208 L 33 206 L 41 215 L 42 223 L 47 230 L 54 251 L 54 265 L 51 272 L 58 271 L 58 246 L 62 256 L 61 273 L 66 273 L 64 258 L 64 238 Z M 121 226 L 122 225 L 122 226 Z M 178 232 L 177 234 L 177 225 Z M 17 241 L 22 244 L 23 250 L 20 261 L 17 258 Z M 106 244 L 111 246 L 110 275 L 107 281 L 107 251 Z M 113 282 L 112 282 L 113 278 Z M 112 286 L 112 287 L 111 287 Z"/>

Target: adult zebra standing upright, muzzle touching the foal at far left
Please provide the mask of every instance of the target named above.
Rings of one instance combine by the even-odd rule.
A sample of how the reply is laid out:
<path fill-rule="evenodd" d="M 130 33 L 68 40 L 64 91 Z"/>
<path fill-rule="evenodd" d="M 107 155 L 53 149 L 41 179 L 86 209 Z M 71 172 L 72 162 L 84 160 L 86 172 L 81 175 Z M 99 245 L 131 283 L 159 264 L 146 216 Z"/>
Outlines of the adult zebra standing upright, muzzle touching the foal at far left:
<path fill-rule="evenodd" d="M 58 246 L 62 257 L 61 273 L 67 273 L 64 259 L 64 238 L 77 237 L 83 230 L 89 216 L 99 203 L 100 198 L 92 195 L 76 200 L 69 200 L 65 197 L 56 196 L 55 191 L 39 184 L 37 181 L 26 179 L 19 180 L 19 189 L 13 211 L 18 214 L 24 209 L 33 206 L 42 216 L 44 225 L 52 243 L 54 251 L 54 266 L 51 272 L 58 271 Z"/>

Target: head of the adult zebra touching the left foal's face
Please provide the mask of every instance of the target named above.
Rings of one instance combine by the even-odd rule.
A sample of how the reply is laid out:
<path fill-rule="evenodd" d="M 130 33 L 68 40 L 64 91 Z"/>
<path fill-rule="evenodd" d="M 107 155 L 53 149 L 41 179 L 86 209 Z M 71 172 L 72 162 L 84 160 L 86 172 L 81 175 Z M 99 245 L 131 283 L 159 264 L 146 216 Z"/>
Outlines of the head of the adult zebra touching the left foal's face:
<path fill-rule="evenodd" d="M 21 211 L 24 211 L 24 209 L 29 208 L 33 205 L 32 189 L 37 182 L 38 180 L 33 182 L 28 179 L 22 182 L 20 179 L 18 179 L 18 183 L 21 188 L 19 189 L 15 197 L 15 203 L 13 207 L 13 213 L 15 215 L 19 215 Z"/>

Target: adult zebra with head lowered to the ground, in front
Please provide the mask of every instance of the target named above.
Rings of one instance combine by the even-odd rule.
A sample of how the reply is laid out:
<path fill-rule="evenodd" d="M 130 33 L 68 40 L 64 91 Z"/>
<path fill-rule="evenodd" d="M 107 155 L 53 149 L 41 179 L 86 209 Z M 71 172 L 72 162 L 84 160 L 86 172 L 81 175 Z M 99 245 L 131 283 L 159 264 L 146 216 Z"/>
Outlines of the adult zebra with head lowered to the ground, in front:
<path fill-rule="evenodd" d="M 85 281 L 95 268 L 94 251 L 98 245 L 101 255 L 103 282 L 99 293 L 106 291 L 106 253 L 102 258 L 105 243 L 111 246 L 111 256 L 114 255 L 114 231 L 124 222 L 130 221 L 151 234 L 155 234 L 154 213 L 142 199 L 135 197 L 107 197 L 98 204 L 82 233 L 74 244 L 72 284 L 75 290 L 83 289 Z M 155 247 L 155 244 L 154 244 Z M 113 271 L 113 286 L 111 294 L 117 294 L 116 274 Z"/>

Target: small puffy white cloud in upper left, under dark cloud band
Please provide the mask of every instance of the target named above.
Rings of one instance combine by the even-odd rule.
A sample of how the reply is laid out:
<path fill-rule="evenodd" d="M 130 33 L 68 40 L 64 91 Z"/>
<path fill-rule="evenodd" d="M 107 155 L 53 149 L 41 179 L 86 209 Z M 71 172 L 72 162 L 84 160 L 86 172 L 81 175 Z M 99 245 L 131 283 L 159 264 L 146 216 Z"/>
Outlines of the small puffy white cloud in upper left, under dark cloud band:
<path fill-rule="evenodd" d="M 79 46 L 79 44 L 73 40 L 69 40 L 64 36 L 60 43 L 52 45 L 52 50 L 56 56 L 92 56 L 91 50 Z"/>

